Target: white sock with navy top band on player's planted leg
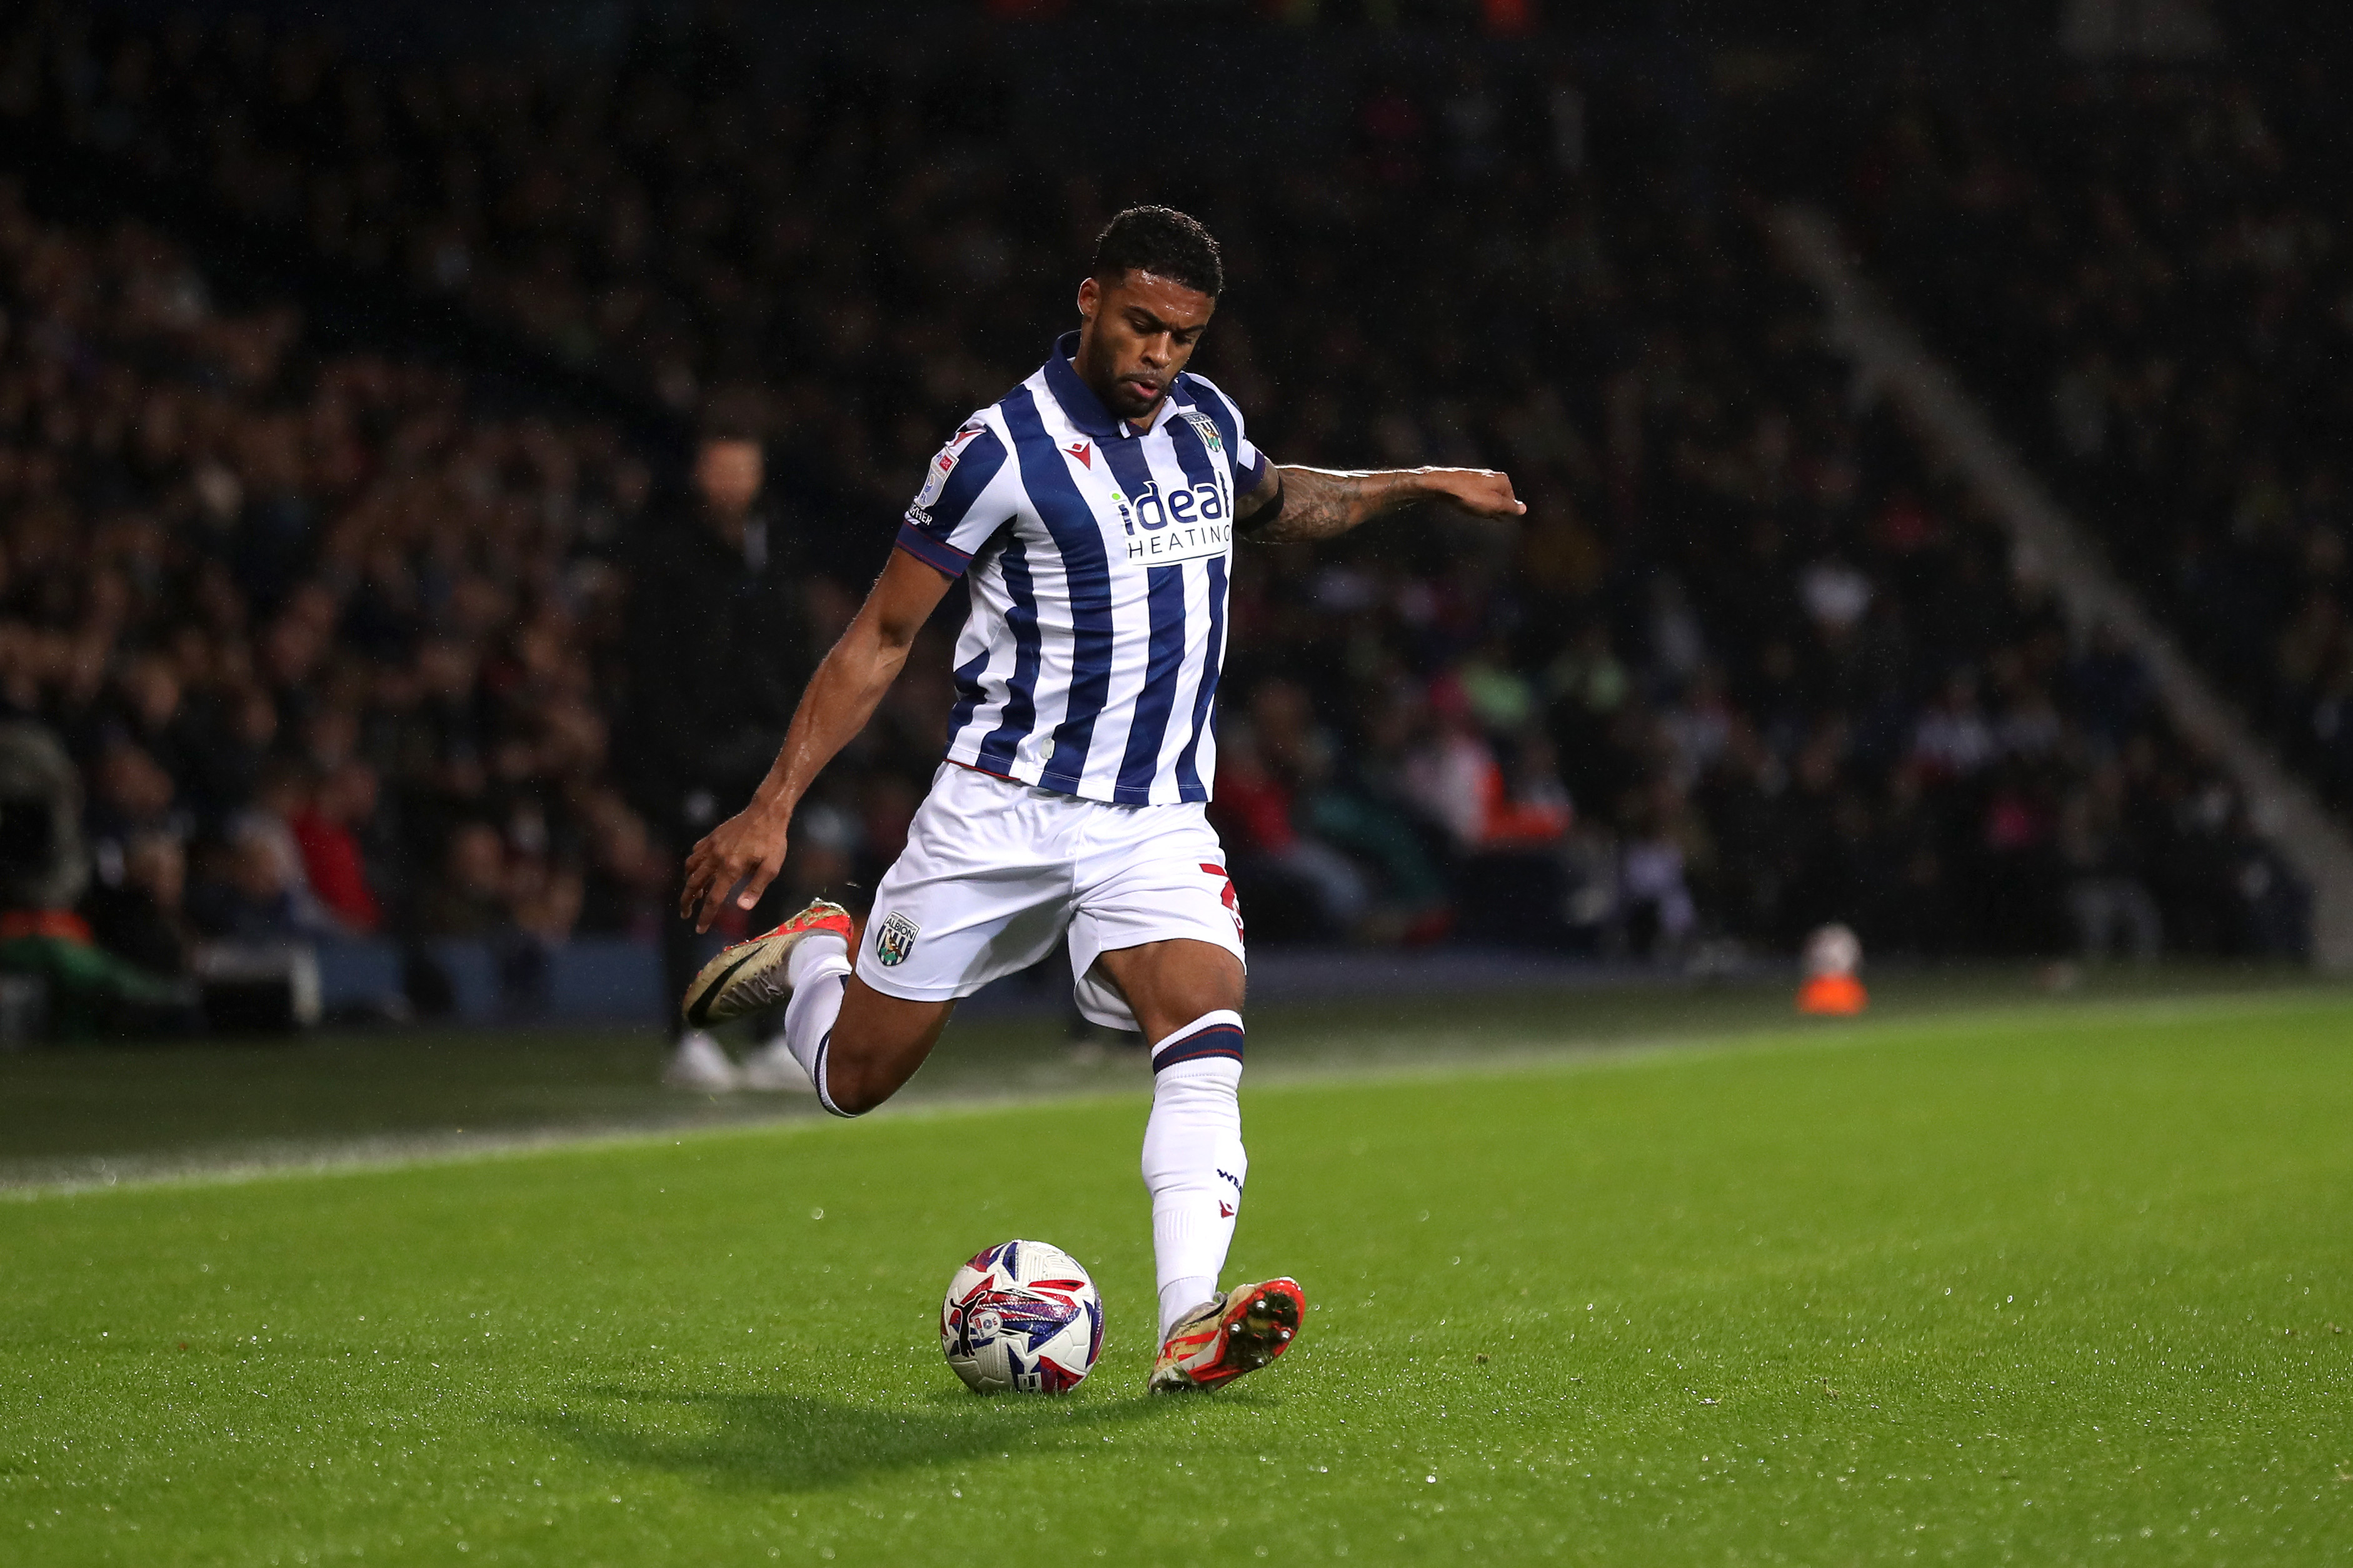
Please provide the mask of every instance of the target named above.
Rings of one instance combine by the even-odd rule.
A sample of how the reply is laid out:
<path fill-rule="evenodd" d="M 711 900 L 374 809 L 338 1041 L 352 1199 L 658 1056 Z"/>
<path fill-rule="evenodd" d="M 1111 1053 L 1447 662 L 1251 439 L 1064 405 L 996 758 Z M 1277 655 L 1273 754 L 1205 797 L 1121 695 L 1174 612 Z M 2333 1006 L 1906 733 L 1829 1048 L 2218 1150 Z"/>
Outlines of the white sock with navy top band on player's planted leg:
<path fill-rule="evenodd" d="M 1217 1295 L 1249 1159 L 1242 1154 L 1242 1016 L 1202 1013 L 1153 1046 L 1144 1185 L 1153 1194 L 1160 1338 Z"/>

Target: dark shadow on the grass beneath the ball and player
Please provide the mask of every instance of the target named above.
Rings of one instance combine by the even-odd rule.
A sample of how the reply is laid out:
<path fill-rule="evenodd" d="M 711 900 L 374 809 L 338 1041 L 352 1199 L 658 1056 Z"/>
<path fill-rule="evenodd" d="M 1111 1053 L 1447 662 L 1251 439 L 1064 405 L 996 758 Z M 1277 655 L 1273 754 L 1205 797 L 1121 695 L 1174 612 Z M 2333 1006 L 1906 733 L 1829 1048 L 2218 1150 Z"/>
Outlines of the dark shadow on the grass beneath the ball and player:
<path fill-rule="evenodd" d="M 565 1410 L 518 1415 L 581 1453 L 720 1486 L 819 1490 L 873 1474 L 993 1460 L 1184 1415 L 1188 1399 L 976 1399 L 962 1389 L 899 1408 L 814 1394 L 598 1385 Z"/>

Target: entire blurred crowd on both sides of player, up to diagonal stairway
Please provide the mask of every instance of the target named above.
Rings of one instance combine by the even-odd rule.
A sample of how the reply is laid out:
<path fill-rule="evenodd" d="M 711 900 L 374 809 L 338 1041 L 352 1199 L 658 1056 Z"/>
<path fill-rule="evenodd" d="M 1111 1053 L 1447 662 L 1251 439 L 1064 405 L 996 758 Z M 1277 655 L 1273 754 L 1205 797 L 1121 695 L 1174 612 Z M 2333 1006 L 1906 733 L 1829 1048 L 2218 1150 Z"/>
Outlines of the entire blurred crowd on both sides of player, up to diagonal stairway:
<path fill-rule="evenodd" d="M 725 407 L 772 458 L 748 529 L 612 425 L 318 355 L 158 235 L 9 207 L 0 693 L 82 759 L 101 882 L 195 846 L 172 898 L 207 931 L 661 929 L 722 802 L 628 743 L 692 682 L 642 588 L 631 630 L 633 550 L 708 527 L 711 571 L 786 576 L 805 668 L 929 451 L 1066 324 L 1094 228 L 1169 200 L 1228 256 L 1198 367 L 1278 461 L 1497 465 L 1529 503 L 1240 550 L 1214 820 L 1254 940 L 2301 947 L 2301 891 L 2129 649 L 1920 465 L 1640 87 L 1464 54 L 1367 73 L 1313 167 L 1104 176 L 1014 139 L 993 71 L 833 54 L 776 92 L 722 31 L 376 68 L 71 12 L 0 42 L 0 120 L 649 407 Z M 896 856 L 946 635 L 776 898 Z M 765 762 L 779 724 L 729 745 Z"/>

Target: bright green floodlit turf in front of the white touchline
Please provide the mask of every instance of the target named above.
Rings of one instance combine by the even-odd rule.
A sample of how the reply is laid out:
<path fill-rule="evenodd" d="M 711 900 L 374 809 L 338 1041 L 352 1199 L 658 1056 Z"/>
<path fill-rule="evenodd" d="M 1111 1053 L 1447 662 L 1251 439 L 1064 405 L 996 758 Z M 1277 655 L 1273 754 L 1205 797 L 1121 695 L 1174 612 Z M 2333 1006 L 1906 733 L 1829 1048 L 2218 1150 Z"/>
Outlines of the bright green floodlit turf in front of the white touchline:
<path fill-rule="evenodd" d="M 0 1561 L 2353 1554 L 2353 1004 L 1245 1091 L 1299 1347 L 1146 1401 L 1141 1098 L 0 1201 Z M 936 1298 L 1094 1267 L 1073 1399 Z"/>

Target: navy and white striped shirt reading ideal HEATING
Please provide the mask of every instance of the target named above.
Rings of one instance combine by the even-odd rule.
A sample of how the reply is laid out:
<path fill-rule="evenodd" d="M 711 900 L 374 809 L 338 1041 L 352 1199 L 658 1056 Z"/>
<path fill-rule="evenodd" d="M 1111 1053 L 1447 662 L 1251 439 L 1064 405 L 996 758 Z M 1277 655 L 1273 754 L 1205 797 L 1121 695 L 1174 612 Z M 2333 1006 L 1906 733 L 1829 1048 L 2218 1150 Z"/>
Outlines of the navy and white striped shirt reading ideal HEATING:
<path fill-rule="evenodd" d="M 972 585 L 948 762 L 1120 806 L 1209 799 L 1233 503 L 1266 456 L 1191 371 L 1136 435 L 1075 350 L 967 418 L 899 527 Z"/>

